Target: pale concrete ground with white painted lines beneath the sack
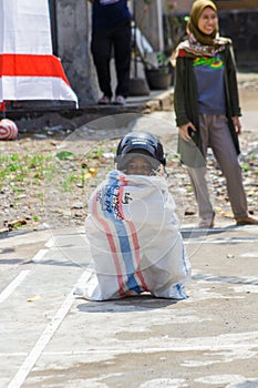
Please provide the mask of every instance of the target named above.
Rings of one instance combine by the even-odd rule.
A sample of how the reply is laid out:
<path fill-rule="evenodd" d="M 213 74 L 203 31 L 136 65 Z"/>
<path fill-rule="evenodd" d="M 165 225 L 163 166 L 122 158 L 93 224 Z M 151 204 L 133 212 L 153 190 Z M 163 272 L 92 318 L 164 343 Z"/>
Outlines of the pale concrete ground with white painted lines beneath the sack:
<path fill-rule="evenodd" d="M 172 115 L 152 115 L 164 139 Z M 258 227 L 182 219 L 182 234 L 193 277 L 178 303 L 75 298 L 90 264 L 81 228 L 0 236 L 0 387 L 257 388 Z"/>

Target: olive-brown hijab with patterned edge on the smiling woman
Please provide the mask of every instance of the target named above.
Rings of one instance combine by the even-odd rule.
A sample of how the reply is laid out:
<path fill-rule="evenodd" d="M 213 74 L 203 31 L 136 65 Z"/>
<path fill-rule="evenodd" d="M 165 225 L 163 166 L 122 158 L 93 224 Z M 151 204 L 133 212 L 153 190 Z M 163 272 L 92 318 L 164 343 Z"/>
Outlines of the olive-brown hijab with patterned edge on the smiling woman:
<path fill-rule="evenodd" d="M 186 27 L 188 39 L 178 44 L 172 55 L 172 64 L 175 65 L 178 57 L 214 57 L 224 51 L 227 44 L 231 43 L 228 38 L 221 38 L 218 33 L 218 25 L 213 33 L 207 35 L 198 28 L 199 18 L 205 8 L 211 8 L 217 13 L 217 8 L 211 0 L 196 0 L 190 10 L 190 18 Z"/>

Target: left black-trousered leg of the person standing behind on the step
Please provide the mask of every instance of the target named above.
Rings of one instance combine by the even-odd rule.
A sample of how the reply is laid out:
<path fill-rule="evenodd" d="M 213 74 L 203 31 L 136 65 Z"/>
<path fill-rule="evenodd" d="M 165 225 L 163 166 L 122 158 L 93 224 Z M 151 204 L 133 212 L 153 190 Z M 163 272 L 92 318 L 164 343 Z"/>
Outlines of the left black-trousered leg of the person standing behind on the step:
<path fill-rule="evenodd" d="M 110 71 L 112 40 L 109 31 L 93 32 L 91 51 L 96 68 L 100 89 L 104 95 L 111 99 L 113 94 Z"/>

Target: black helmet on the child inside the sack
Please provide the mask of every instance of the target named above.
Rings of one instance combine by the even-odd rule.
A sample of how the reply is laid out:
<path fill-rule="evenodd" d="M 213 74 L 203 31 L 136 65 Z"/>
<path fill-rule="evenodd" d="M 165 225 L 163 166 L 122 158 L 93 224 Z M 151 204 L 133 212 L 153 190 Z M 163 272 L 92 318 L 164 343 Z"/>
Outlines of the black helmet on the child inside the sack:
<path fill-rule="evenodd" d="M 132 153 L 140 153 L 151 156 L 151 159 L 155 160 L 154 164 L 156 169 L 159 164 L 163 164 L 164 166 L 166 165 L 163 145 L 159 140 L 149 132 L 130 132 L 121 139 L 115 156 L 117 170 L 123 170 L 125 162 L 124 156 Z"/>

